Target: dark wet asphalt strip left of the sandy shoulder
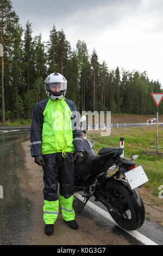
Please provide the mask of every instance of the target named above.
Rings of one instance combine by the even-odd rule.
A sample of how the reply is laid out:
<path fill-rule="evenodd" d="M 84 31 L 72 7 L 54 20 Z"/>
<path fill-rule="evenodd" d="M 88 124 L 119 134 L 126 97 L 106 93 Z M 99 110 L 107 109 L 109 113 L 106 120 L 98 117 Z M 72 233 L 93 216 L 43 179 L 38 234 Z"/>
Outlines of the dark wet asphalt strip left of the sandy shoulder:
<path fill-rule="evenodd" d="M 29 133 L 29 131 L 28 131 Z M 25 135 L 26 136 L 26 135 Z M 0 135 L 0 184 L 3 186 L 3 199 L 0 199 L 1 245 L 24 244 L 28 240 L 32 214 L 32 202 L 22 197 L 17 178 L 17 169 L 24 170 L 21 141 L 24 133 L 4 133 Z"/>

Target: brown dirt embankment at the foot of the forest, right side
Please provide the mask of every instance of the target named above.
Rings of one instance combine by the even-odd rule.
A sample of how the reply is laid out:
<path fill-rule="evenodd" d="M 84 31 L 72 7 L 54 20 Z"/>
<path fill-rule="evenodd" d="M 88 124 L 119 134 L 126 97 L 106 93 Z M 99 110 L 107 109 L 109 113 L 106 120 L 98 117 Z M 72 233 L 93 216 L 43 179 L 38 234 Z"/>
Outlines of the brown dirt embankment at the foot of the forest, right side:
<path fill-rule="evenodd" d="M 123 115 L 112 114 L 112 123 L 146 123 L 149 118 L 156 118 L 156 115 Z M 159 115 L 159 123 L 163 123 L 163 115 Z"/>

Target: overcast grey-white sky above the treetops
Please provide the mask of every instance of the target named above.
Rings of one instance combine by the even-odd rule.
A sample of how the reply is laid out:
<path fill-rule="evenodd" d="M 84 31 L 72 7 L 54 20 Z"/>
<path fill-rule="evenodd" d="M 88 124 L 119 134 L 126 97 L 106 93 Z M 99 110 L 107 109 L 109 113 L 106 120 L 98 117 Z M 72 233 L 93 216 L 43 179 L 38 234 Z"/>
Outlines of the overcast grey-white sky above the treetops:
<path fill-rule="evenodd" d="M 78 39 L 89 54 L 109 69 L 147 71 L 163 87 L 162 0 L 11 0 L 20 23 L 32 23 L 33 35 L 49 39 L 53 23 L 66 34 L 72 48 Z"/>

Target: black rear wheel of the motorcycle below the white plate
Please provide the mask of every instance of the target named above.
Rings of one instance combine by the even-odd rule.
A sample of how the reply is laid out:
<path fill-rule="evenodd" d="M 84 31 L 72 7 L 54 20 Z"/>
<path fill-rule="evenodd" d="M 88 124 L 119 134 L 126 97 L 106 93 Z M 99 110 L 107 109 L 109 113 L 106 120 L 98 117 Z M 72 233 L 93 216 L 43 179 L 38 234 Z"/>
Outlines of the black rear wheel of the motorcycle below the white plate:
<path fill-rule="evenodd" d="M 109 211 L 114 221 L 126 230 L 140 228 L 145 221 L 145 206 L 139 193 L 131 190 L 128 184 L 125 185 L 118 180 L 108 182 L 105 191 L 108 203 L 117 209 L 116 212 Z"/>

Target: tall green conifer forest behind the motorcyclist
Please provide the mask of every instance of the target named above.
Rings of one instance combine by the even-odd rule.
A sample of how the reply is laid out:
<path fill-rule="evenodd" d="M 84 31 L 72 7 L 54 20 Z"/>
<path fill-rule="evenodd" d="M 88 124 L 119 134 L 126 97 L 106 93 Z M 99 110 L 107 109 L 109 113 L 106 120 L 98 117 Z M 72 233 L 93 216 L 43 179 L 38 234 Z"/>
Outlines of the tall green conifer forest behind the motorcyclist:
<path fill-rule="evenodd" d="M 43 82 L 52 72 L 65 76 L 66 98 L 76 103 L 80 113 L 156 113 L 151 93 L 163 92 L 159 81 L 149 81 L 146 71 L 120 70 L 118 63 L 110 69 L 111 63 L 100 63 L 96 49 L 89 54 L 86 42 L 80 39 L 72 49 L 55 21 L 49 38 L 42 41 L 41 34 L 33 35 L 29 20 L 22 28 L 10 0 L 0 0 L 0 44 L 4 49 L 0 57 L 1 120 L 3 112 L 5 121 L 31 119 L 36 103 L 47 97 Z M 162 105 L 159 113 L 163 114 Z"/>

